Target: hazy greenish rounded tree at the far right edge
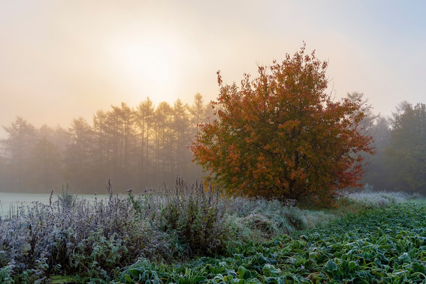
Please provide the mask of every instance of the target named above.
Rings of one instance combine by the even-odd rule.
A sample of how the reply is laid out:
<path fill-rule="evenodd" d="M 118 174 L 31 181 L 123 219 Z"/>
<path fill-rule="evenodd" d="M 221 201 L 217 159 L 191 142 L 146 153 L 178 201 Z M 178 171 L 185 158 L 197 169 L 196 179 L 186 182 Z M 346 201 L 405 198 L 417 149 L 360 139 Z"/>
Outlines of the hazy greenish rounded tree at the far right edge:
<path fill-rule="evenodd" d="M 426 105 L 403 102 L 393 114 L 386 150 L 395 189 L 426 193 Z"/>

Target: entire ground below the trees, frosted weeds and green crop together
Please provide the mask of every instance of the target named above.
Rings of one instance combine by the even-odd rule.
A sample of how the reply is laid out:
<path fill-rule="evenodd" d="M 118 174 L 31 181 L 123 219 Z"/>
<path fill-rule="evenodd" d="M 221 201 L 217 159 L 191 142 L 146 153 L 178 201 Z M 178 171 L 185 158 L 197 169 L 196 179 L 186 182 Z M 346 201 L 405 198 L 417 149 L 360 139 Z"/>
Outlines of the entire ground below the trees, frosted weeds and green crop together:
<path fill-rule="evenodd" d="M 426 202 L 402 193 L 318 210 L 183 183 L 71 200 L 0 219 L 1 283 L 426 281 Z"/>

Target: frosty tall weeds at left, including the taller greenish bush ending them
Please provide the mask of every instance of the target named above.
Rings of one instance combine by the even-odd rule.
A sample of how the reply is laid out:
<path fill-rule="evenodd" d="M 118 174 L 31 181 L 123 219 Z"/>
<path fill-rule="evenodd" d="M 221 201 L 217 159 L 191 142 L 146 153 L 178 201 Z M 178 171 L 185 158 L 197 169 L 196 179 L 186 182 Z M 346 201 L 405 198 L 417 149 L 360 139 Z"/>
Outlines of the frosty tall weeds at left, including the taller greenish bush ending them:
<path fill-rule="evenodd" d="M 111 280 L 138 258 L 174 263 L 224 251 L 229 238 L 220 193 L 178 179 L 120 198 L 88 202 L 65 190 L 50 204 L 20 206 L 0 219 L 0 282 L 53 274 Z M 53 196 L 53 195 L 52 195 Z"/>

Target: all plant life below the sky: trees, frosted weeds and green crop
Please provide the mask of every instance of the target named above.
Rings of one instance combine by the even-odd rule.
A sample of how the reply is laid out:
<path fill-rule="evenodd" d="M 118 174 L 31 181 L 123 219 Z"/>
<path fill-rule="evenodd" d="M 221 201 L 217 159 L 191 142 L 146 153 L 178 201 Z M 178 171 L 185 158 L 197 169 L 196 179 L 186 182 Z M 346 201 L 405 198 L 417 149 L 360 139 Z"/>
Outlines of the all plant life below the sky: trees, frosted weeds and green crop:
<path fill-rule="evenodd" d="M 17 118 L 4 127 L 0 189 L 62 183 L 62 194 L 0 215 L 0 282 L 426 282 L 426 202 L 380 191 L 424 193 L 426 107 L 404 103 L 389 121 L 362 94 L 333 102 L 326 66 L 303 46 L 240 89 L 218 72 L 209 122 L 199 94 L 192 107 L 122 103 L 68 131 Z M 119 197 L 108 179 L 108 198 L 88 202 L 63 186 L 198 177 L 194 136 L 195 161 L 214 182 L 207 188 L 178 178 Z M 349 190 L 366 164 L 370 184 Z"/>

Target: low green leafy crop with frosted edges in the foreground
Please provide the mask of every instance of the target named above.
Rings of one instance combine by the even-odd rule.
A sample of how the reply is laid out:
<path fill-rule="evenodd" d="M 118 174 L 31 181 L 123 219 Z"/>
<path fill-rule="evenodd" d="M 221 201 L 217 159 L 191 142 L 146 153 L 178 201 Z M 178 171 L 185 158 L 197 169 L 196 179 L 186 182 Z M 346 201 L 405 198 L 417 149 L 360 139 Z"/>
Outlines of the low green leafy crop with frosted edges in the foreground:
<path fill-rule="evenodd" d="M 423 283 L 426 202 L 378 208 L 181 266 L 139 260 L 126 283 Z"/>

